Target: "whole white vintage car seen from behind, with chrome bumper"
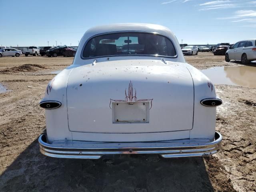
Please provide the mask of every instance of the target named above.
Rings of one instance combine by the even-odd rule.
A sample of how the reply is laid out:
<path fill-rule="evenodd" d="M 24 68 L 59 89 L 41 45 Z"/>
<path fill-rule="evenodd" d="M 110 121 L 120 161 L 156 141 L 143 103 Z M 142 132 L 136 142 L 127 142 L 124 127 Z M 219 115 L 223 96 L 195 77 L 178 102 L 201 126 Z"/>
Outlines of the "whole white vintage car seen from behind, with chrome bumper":
<path fill-rule="evenodd" d="M 187 64 L 178 40 L 155 24 L 89 29 L 74 62 L 48 84 L 42 154 L 98 159 L 113 154 L 164 158 L 221 149 L 222 104 L 212 82 Z"/>

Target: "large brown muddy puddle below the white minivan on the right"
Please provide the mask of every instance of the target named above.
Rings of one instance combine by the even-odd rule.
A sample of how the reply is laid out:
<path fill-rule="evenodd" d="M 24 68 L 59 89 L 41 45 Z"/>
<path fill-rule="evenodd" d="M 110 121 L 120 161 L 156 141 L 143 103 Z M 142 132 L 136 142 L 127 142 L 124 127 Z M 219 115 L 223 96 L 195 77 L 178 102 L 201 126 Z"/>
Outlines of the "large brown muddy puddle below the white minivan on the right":
<path fill-rule="evenodd" d="M 256 88 L 256 66 L 214 67 L 202 70 L 214 84 Z"/>

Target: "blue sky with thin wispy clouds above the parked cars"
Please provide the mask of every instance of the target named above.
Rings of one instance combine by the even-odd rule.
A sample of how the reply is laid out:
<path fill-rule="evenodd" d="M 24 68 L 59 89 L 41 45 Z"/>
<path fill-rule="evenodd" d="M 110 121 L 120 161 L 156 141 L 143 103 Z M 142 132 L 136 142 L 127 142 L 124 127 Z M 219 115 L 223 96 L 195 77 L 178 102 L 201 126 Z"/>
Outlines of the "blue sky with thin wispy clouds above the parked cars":
<path fill-rule="evenodd" d="M 256 38 L 256 0 L 0 0 L 0 13 L 5 46 L 76 46 L 88 28 L 124 22 L 164 25 L 188 44 Z"/>

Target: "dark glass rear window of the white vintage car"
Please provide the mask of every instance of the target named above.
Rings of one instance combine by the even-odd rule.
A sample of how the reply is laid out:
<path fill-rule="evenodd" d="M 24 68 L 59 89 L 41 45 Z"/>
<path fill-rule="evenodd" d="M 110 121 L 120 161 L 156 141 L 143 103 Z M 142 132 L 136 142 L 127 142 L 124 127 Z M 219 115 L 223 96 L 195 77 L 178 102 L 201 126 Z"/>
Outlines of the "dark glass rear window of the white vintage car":
<path fill-rule="evenodd" d="M 96 36 L 87 42 L 82 53 L 83 58 L 122 55 L 175 57 L 176 50 L 172 42 L 164 36 L 128 32 Z"/>

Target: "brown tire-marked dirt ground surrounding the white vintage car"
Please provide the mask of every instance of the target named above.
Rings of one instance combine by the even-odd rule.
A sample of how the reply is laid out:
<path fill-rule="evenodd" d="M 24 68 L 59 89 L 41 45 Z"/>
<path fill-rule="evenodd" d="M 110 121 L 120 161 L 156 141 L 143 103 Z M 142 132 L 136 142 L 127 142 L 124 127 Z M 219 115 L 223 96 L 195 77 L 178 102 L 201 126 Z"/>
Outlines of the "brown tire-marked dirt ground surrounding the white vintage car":
<path fill-rule="evenodd" d="M 115 162 L 57 159 L 39 152 L 38 136 L 45 132 L 44 110 L 38 102 L 50 72 L 72 64 L 73 58 L 0 58 L 0 191 L 256 191 L 256 89 L 216 85 L 224 104 L 218 107 L 216 130 L 222 150 L 205 158 L 160 159 L 120 156 Z M 196 68 L 238 66 L 224 56 L 186 56 Z M 32 86 L 35 88 L 28 88 Z M 10 90 L 10 91 L 9 91 Z"/>

